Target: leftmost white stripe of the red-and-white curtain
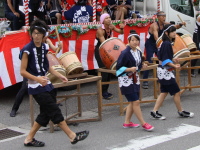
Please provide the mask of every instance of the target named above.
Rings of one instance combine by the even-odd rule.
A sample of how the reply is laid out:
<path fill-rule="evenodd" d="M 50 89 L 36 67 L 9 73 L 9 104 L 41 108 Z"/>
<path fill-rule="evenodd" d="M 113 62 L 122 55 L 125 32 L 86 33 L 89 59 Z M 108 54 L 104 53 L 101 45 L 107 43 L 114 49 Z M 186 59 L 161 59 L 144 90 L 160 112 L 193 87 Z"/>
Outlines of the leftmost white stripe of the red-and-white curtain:
<path fill-rule="evenodd" d="M 5 61 L 3 52 L 0 53 L 0 68 L 1 68 L 0 78 L 3 82 L 4 88 L 6 88 L 6 87 L 8 87 L 12 84 L 11 84 L 11 81 L 10 81 L 10 76 L 8 74 L 8 69 L 7 69 L 7 66 L 6 66 L 6 61 Z"/>

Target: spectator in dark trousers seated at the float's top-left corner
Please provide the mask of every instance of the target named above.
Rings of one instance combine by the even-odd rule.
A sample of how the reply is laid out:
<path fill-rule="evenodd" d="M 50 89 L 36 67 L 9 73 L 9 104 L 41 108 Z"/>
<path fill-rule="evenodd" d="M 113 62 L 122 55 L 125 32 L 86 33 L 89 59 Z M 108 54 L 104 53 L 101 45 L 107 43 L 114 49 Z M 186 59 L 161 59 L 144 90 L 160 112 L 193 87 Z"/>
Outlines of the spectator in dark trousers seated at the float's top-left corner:
<path fill-rule="evenodd" d="M 19 30 L 25 24 L 25 15 L 19 11 L 18 1 L 15 2 L 15 5 L 12 0 L 5 0 L 5 17 L 13 22 L 12 30 Z"/>

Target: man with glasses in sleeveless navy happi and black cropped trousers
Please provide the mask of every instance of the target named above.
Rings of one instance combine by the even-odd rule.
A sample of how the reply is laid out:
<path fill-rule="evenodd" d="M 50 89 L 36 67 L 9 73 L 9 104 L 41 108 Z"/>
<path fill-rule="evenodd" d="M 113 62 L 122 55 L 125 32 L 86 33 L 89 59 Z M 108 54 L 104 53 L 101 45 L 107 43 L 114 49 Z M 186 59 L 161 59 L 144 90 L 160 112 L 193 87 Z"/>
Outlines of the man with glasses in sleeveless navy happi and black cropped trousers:
<path fill-rule="evenodd" d="M 46 54 L 48 49 L 42 43 L 47 30 L 45 22 L 35 20 L 30 26 L 32 41 L 20 51 L 21 75 L 28 79 L 28 93 L 33 95 L 40 106 L 37 116 L 28 136 L 24 140 L 24 146 L 42 147 L 44 142 L 37 141 L 34 136 L 41 126 L 47 126 L 51 120 L 67 134 L 71 144 L 84 140 L 89 131 L 73 132 L 66 124 L 60 108 L 56 104 L 56 92 L 50 80 L 45 76 L 47 72 L 67 82 L 67 78 L 49 66 Z"/>

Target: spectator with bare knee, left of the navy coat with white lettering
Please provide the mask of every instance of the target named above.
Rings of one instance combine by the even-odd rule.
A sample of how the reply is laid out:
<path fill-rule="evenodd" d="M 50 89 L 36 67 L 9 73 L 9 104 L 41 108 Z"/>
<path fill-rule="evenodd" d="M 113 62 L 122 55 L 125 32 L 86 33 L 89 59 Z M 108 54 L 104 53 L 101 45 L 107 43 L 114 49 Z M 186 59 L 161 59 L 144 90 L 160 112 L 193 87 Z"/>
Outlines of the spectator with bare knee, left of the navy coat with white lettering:
<path fill-rule="evenodd" d="M 57 24 L 62 23 L 62 2 L 61 0 L 46 0 L 47 10 L 50 11 L 50 18 L 55 17 L 57 19 Z"/>

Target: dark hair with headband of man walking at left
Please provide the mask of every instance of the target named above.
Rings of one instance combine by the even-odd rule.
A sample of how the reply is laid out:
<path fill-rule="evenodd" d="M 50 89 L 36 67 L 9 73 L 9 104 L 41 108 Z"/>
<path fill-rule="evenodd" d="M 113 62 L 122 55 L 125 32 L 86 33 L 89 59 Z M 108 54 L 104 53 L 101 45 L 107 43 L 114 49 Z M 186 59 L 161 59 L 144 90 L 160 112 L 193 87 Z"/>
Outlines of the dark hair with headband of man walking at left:
<path fill-rule="evenodd" d="M 42 33 L 43 36 L 45 36 L 46 32 L 49 30 L 49 26 L 44 21 L 36 19 L 31 23 L 30 26 L 31 34 L 35 29 L 38 30 L 38 32 Z"/>

